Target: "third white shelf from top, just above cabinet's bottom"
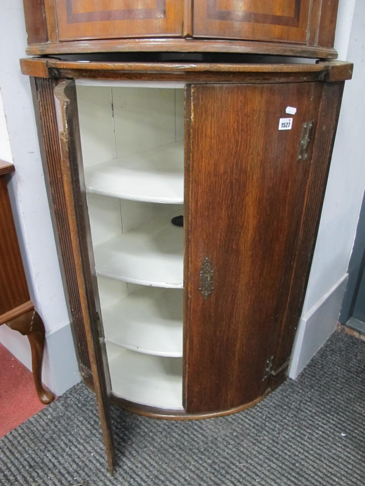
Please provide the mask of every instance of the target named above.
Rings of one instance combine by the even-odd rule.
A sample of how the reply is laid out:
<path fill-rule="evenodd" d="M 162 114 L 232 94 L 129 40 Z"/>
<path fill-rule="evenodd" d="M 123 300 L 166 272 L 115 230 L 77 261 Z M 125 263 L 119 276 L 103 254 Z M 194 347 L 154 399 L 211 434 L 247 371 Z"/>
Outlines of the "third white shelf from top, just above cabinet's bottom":
<path fill-rule="evenodd" d="M 183 292 L 144 288 L 102 311 L 105 341 L 156 356 L 183 356 Z"/>

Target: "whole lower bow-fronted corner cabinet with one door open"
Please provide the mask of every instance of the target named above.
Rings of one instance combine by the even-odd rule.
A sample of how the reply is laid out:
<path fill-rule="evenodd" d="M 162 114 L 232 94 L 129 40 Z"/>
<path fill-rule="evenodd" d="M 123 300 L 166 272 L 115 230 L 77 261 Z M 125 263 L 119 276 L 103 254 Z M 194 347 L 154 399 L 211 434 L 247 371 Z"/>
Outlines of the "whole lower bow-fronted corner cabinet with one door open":
<path fill-rule="evenodd" d="M 215 417 L 286 379 L 352 64 L 21 68 L 112 469 L 111 402 Z"/>

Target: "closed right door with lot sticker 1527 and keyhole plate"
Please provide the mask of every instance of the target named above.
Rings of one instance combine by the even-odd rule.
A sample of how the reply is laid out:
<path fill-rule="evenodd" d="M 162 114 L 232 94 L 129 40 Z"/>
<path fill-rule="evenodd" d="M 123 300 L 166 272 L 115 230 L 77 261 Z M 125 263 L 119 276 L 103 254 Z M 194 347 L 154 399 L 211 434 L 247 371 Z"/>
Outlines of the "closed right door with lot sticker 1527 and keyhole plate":
<path fill-rule="evenodd" d="M 269 387 L 311 163 L 297 159 L 299 144 L 319 96 L 316 83 L 186 88 L 187 412 L 238 407 Z"/>

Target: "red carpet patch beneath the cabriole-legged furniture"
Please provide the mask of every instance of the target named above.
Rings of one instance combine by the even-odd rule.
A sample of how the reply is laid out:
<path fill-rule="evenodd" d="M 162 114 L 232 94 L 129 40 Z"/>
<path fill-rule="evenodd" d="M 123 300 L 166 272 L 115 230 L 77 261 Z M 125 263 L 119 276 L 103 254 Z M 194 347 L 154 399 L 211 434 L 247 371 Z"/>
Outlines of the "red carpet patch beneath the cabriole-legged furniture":
<path fill-rule="evenodd" d="M 0 344 L 0 437 L 40 412 L 33 374 Z"/>

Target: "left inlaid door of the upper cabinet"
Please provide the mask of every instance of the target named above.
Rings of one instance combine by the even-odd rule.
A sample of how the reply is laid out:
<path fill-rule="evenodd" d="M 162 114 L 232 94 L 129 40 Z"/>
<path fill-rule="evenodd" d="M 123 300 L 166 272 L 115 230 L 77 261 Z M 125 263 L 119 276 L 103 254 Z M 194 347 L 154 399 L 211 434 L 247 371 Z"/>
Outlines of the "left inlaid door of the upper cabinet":
<path fill-rule="evenodd" d="M 59 40 L 181 36 L 183 0 L 55 0 Z"/>

